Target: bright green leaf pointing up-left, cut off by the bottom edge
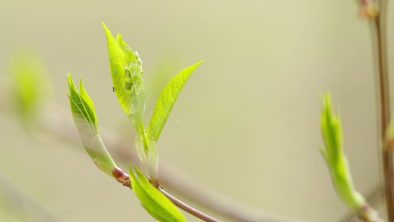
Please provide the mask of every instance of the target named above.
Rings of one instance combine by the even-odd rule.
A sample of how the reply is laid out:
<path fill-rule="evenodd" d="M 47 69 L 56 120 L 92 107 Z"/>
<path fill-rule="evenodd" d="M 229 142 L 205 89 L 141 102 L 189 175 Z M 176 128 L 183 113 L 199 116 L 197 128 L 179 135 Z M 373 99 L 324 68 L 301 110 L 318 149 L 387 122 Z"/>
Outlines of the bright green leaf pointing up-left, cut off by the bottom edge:
<path fill-rule="evenodd" d="M 177 207 L 154 188 L 137 168 L 136 173 L 130 169 L 130 177 L 134 192 L 151 216 L 160 222 L 186 222 Z"/>

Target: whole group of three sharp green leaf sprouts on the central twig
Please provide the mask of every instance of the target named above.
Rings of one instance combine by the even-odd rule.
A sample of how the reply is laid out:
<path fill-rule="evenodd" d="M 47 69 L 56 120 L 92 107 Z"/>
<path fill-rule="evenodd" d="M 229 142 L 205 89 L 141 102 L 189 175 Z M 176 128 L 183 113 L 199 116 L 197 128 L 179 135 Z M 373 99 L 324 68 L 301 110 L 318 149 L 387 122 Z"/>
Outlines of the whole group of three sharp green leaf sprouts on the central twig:
<path fill-rule="evenodd" d="M 84 89 L 82 77 L 80 92 L 78 92 L 71 75 L 68 74 L 71 112 L 82 144 L 100 170 L 114 177 L 117 181 L 123 182 L 125 186 L 133 188 L 142 206 L 154 218 L 161 222 L 186 222 L 186 219 L 175 205 L 156 189 L 160 186 L 157 175 L 158 154 L 156 143 L 180 91 L 193 71 L 203 61 L 182 70 L 167 83 L 162 92 L 160 92 L 152 118 L 147 127 L 147 132 L 145 132 L 142 120 L 145 113 L 142 60 L 138 53 L 133 52 L 122 40 L 120 34 L 117 35 L 115 40 L 104 23 L 103 26 L 108 43 L 113 90 L 121 108 L 138 133 L 136 137 L 136 151 L 140 159 L 142 173 L 138 169 L 136 169 L 136 173 L 130 169 L 130 180 L 130 177 L 116 166 L 99 136 L 99 127 L 93 102 Z M 144 175 L 149 177 L 150 180 L 148 181 Z"/>

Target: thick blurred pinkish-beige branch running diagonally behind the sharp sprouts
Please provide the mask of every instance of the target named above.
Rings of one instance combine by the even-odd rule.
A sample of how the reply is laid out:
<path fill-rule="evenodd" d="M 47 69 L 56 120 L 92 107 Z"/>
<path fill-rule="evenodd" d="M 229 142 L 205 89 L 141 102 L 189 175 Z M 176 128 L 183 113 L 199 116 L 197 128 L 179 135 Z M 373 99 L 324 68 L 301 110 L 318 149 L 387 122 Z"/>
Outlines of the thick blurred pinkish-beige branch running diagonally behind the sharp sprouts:
<path fill-rule="evenodd" d="M 81 142 L 74 124 L 71 121 L 68 121 L 67 118 L 59 118 L 67 116 L 71 116 L 69 112 L 57 107 L 56 111 L 46 113 L 45 118 L 39 120 L 38 123 L 41 128 L 56 135 L 57 137 L 71 141 L 72 143 L 80 146 Z M 138 165 L 139 159 L 135 149 L 130 148 L 132 143 L 125 141 L 125 139 L 103 127 L 100 127 L 100 136 L 114 159 L 121 160 L 128 165 Z M 184 194 L 190 199 L 197 201 L 214 211 L 239 221 L 307 222 L 305 220 L 268 213 L 262 209 L 257 209 L 244 203 L 240 203 L 239 201 L 217 192 L 206 184 L 203 184 L 183 171 L 180 171 L 176 167 L 171 166 L 171 164 L 166 162 L 163 158 L 160 158 L 159 175 L 160 182 L 162 184 L 166 184 L 174 190 L 177 190 L 177 192 Z"/>

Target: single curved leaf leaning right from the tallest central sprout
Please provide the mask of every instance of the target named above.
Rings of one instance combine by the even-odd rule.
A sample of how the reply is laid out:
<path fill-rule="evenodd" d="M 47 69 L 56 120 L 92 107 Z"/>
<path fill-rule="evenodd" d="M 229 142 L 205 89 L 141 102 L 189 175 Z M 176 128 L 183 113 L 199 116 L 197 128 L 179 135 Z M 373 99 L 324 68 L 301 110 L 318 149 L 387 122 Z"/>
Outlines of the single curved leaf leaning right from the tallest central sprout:
<path fill-rule="evenodd" d="M 177 101 L 180 90 L 182 90 L 186 81 L 188 81 L 191 73 L 193 73 L 203 61 L 182 70 L 178 75 L 172 78 L 167 85 L 165 85 L 162 92 L 160 92 L 159 98 L 154 106 L 151 121 L 147 128 L 148 137 L 152 135 L 156 143 L 174 107 L 175 101 Z"/>

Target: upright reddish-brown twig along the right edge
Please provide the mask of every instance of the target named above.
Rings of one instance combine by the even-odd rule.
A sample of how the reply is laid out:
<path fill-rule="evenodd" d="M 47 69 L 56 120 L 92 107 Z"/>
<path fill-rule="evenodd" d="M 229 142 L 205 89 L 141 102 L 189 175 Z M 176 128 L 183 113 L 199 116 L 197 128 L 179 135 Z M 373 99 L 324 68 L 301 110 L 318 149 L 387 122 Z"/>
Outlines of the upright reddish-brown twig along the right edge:
<path fill-rule="evenodd" d="M 390 94 L 388 86 L 387 70 L 387 40 L 386 40 L 386 4 L 385 0 L 380 2 L 380 13 L 374 19 L 377 68 L 379 73 L 379 90 L 381 104 L 381 139 L 383 141 L 387 126 L 390 122 Z M 388 221 L 394 222 L 394 196 L 393 196 L 393 153 L 391 149 L 383 149 L 383 177 L 385 184 L 385 200 Z"/>

